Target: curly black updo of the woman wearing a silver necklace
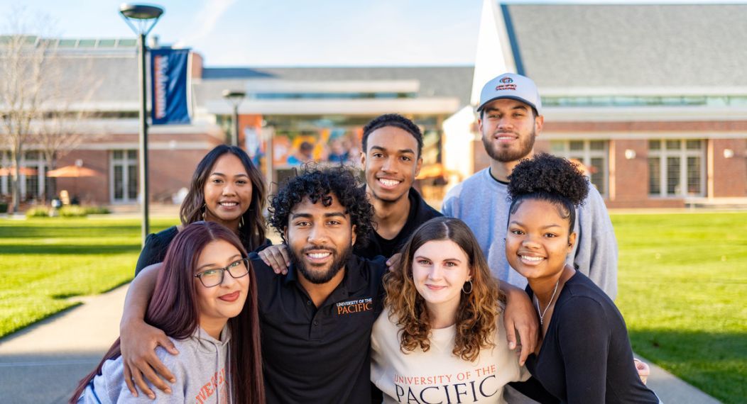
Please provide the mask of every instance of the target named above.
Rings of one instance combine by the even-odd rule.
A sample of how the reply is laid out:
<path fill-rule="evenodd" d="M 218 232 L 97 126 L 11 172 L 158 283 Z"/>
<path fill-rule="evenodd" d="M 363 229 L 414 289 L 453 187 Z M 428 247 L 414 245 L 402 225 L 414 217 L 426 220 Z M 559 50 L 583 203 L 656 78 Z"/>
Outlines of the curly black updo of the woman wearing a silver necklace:
<path fill-rule="evenodd" d="M 509 175 L 509 212 L 516 212 L 521 201 L 547 201 L 557 206 L 560 216 L 576 221 L 576 207 L 589 195 L 589 180 L 574 163 L 547 153 L 521 160 Z"/>

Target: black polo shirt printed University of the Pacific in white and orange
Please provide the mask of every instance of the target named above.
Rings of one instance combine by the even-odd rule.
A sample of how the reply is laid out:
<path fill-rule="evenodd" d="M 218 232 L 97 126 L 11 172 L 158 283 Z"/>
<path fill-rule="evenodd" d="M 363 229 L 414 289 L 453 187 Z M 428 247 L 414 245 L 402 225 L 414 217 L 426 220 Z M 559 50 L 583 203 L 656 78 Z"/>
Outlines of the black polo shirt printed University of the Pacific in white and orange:
<path fill-rule="evenodd" d="M 294 267 L 276 275 L 252 257 L 267 403 L 369 403 L 371 328 L 382 310 L 384 259 L 351 256 L 317 309 Z"/>

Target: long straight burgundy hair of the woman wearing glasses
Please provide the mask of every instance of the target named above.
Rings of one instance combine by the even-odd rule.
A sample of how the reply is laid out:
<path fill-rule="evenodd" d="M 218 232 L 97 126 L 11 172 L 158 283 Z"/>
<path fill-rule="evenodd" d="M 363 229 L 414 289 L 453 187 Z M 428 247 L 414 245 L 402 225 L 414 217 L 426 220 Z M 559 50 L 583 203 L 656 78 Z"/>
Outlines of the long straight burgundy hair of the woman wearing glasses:
<path fill-rule="evenodd" d="M 153 297 L 146 312 L 146 323 L 163 330 L 174 339 L 189 338 L 199 327 L 199 309 L 193 270 L 200 253 L 211 242 L 223 240 L 246 257 L 247 251 L 231 230 L 222 224 L 198 221 L 187 225 L 174 238 L 166 253 Z M 229 373 L 234 403 L 264 403 L 264 380 L 259 338 L 257 284 L 249 267 L 249 292 L 241 313 L 229 318 Z M 76 403 L 88 383 L 101 374 L 108 359 L 122 356 L 120 338 L 109 348 L 96 370 L 85 376 L 70 403 Z"/>

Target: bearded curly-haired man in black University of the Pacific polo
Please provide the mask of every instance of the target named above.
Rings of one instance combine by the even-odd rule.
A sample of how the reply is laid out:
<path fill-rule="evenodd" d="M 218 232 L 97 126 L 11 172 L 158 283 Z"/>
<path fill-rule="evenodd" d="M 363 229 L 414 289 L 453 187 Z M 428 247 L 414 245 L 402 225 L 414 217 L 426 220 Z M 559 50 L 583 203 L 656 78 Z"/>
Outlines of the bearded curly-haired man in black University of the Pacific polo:
<path fill-rule="evenodd" d="M 353 255 L 371 230 L 365 189 L 344 168 L 312 170 L 273 198 L 270 224 L 291 251 L 291 268 L 276 275 L 250 255 L 258 283 L 267 403 L 366 403 L 371 399 L 370 338 L 381 312 L 385 262 Z M 123 360 L 148 394 L 140 371 L 157 388 L 173 379 L 153 353 L 173 347 L 143 322 L 157 265 L 131 285 L 121 335 Z M 154 372 L 155 370 L 155 372 Z"/>

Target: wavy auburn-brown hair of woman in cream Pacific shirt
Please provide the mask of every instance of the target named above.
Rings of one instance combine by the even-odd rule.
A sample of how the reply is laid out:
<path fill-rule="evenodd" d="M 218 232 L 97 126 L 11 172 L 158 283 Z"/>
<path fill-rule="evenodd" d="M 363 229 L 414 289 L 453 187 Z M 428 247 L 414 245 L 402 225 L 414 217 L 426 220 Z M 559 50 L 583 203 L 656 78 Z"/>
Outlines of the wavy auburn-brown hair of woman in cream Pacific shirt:
<path fill-rule="evenodd" d="M 402 248 L 400 265 L 384 275 L 386 297 L 392 319 L 400 327 L 400 350 L 403 353 L 416 348 L 430 350 L 430 318 L 425 299 L 415 288 L 412 279 L 412 261 L 415 251 L 434 240 L 450 240 L 468 256 L 472 273 L 469 293 L 462 289 L 459 308 L 456 309 L 456 335 L 453 354 L 465 361 L 474 361 L 480 350 L 495 347 L 495 327 L 502 312 L 501 303 L 506 297 L 498 288 L 488 263 L 472 230 L 457 218 L 433 218 L 412 233 Z"/>

